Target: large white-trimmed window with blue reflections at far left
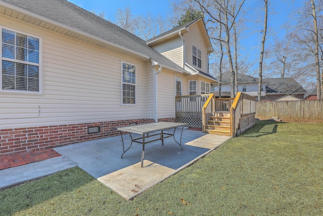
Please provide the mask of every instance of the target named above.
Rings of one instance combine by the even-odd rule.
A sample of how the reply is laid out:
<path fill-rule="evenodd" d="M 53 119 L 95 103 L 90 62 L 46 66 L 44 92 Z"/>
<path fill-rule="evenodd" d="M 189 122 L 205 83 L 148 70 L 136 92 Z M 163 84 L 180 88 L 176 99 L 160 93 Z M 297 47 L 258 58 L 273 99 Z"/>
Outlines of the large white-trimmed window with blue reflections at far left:
<path fill-rule="evenodd" d="M 2 28 L 2 91 L 39 92 L 41 39 Z"/>

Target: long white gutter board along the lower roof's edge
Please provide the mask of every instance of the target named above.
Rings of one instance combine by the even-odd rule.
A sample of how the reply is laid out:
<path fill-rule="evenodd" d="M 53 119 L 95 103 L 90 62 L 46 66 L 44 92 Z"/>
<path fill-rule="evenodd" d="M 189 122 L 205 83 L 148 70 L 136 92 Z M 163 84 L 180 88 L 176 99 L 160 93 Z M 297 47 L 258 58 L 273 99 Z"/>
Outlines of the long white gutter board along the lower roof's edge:
<path fill-rule="evenodd" d="M 7 8 L 12 9 L 12 10 L 18 11 L 19 13 L 24 13 L 24 14 L 26 14 L 26 15 L 28 15 L 28 16 L 34 17 L 34 18 L 39 19 L 39 20 L 42 20 L 42 21 L 44 21 L 44 22 L 48 22 L 48 23 L 51 23 L 51 24 L 53 24 L 53 25 L 60 26 L 60 27 L 62 27 L 62 28 L 65 28 L 65 29 L 68 29 L 68 30 L 71 30 L 71 31 L 77 32 L 77 33 L 79 33 L 79 34 L 82 34 L 82 35 L 84 35 L 84 36 L 87 36 L 87 37 L 90 37 L 90 38 L 92 38 L 92 39 L 98 40 L 98 41 L 100 41 L 100 42 L 103 42 L 103 43 L 105 43 L 105 44 L 111 45 L 111 46 L 113 46 L 113 47 L 116 47 L 116 48 L 122 49 L 122 50 L 124 50 L 124 51 L 129 52 L 129 53 L 136 54 L 136 55 L 138 55 L 138 56 L 141 56 L 141 57 L 143 57 L 143 58 L 146 58 L 147 60 L 149 60 L 149 59 L 150 59 L 150 57 L 149 57 L 149 56 L 147 56 L 147 55 L 143 55 L 143 54 L 138 53 L 138 52 L 136 52 L 136 51 L 133 51 L 133 50 L 130 50 L 130 49 L 128 49 L 128 48 L 122 47 L 122 46 L 120 46 L 120 45 L 114 44 L 113 42 L 110 42 L 110 41 L 104 40 L 104 39 L 102 39 L 102 38 L 100 38 L 100 37 L 94 36 L 94 35 L 92 35 L 92 34 L 89 34 L 89 33 L 87 33 L 87 32 L 84 32 L 84 31 L 78 30 L 78 29 L 76 29 L 76 28 L 73 28 L 73 27 L 70 27 L 70 26 L 67 26 L 67 25 L 64 25 L 64 24 L 62 24 L 62 23 L 59 23 L 59 22 L 53 21 L 53 20 L 51 20 L 51 19 L 48 19 L 48 18 L 42 17 L 42 16 L 40 16 L 40 15 L 33 14 L 33 13 L 29 12 L 29 11 L 22 10 L 22 9 L 17 8 L 17 7 L 15 7 L 15 6 L 12 6 L 12 5 L 10 5 L 10 4 L 6 4 L 6 3 L 3 3 L 3 2 L 0 2 L 0 5 L 3 5 L 3 6 L 5 6 L 5 7 L 7 7 Z"/>

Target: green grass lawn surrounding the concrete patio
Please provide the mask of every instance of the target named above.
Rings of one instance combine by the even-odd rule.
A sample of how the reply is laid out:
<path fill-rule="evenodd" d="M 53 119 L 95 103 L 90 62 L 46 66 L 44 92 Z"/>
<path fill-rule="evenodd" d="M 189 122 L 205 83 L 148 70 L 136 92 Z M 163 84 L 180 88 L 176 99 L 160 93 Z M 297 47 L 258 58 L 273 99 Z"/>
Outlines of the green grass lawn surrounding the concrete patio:
<path fill-rule="evenodd" d="M 0 191 L 0 214 L 323 215 L 322 128 L 257 121 L 133 201 L 71 168 Z"/>

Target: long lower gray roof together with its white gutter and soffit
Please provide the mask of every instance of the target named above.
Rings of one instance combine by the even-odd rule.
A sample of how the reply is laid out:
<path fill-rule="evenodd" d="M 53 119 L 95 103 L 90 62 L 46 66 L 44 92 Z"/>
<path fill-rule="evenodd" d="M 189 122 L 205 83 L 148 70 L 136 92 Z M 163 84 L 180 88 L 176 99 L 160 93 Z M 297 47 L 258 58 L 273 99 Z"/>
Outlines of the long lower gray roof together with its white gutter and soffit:
<path fill-rule="evenodd" d="M 177 72 L 189 73 L 170 59 L 147 46 L 145 40 L 66 0 L 3 0 L 0 2 L 0 8 L 1 5 L 43 21 L 43 23 L 38 21 L 33 22 L 33 24 L 38 26 L 58 31 L 62 34 L 67 33 L 66 31 L 58 30 L 59 27 L 63 29 L 67 28 L 71 32 L 76 32 L 74 35 L 81 35 L 73 36 L 73 33 L 69 33 L 69 36 L 74 38 L 92 42 L 104 48 L 114 48 L 116 49 L 115 52 L 118 52 L 117 49 L 119 49 L 124 51 L 123 54 L 125 55 L 127 55 L 126 53 L 134 53 L 142 58 L 150 58 L 155 63 L 157 62 L 158 65 L 165 66 Z M 15 18 L 26 21 L 21 16 Z M 53 24 L 53 27 L 46 27 L 46 23 Z M 57 30 L 55 26 L 59 26 Z"/>

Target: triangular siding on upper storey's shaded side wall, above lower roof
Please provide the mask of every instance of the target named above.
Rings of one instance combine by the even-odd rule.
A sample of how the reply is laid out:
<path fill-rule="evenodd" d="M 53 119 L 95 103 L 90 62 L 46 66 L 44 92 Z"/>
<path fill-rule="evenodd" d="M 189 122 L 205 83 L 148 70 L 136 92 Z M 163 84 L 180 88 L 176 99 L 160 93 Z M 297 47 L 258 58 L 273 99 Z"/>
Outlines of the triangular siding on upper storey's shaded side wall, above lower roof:
<path fill-rule="evenodd" d="M 179 66 L 183 67 L 183 40 L 176 38 L 153 47 L 157 52 L 163 54 Z"/>

